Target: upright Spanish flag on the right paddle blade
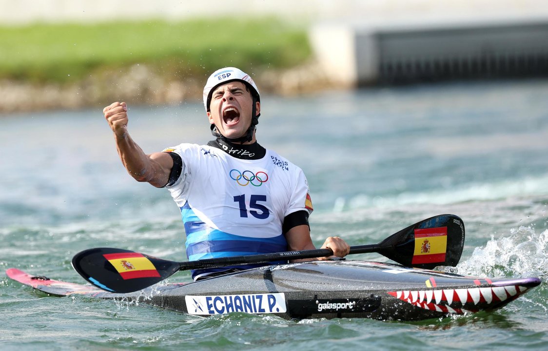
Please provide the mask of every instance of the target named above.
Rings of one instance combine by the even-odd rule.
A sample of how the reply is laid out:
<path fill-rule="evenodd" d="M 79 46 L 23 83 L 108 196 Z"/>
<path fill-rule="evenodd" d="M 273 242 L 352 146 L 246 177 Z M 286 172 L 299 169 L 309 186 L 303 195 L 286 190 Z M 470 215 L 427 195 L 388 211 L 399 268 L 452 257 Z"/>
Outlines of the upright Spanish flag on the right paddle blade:
<path fill-rule="evenodd" d="M 447 227 L 415 229 L 415 251 L 411 264 L 444 262 Z"/>

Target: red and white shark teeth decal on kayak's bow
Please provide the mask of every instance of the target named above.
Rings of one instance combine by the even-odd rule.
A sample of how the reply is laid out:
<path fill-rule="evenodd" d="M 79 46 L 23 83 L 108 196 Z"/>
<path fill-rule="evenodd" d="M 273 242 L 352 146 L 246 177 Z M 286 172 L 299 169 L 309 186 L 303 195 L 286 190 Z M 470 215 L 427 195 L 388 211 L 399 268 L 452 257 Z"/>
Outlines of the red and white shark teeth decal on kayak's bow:
<path fill-rule="evenodd" d="M 464 314 L 477 312 L 473 307 L 478 303 L 488 306 L 516 298 L 528 287 L 521 285 L 470 287 L 467 289 L 443 290 L 400 290 L 388 294 L 417 307 L 437 312 Z M 466 305 L 466 309 L 464 308 Z M 484 309 L 485 307 L 483 307 Z"/>

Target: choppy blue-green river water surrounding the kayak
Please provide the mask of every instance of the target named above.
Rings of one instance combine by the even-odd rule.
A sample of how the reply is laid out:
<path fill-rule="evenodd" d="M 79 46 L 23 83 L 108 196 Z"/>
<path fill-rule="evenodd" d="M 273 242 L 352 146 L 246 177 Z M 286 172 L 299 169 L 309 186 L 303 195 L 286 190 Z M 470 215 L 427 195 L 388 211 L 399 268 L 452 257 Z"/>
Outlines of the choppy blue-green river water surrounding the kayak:
<path fill-rule="evenodd" d="M 165 189 L 133 181 L 102 107 L 1 116 L 0 268 L 84 283 L 83 249 L 112 246 L 185 260 Z M 200 102 L 130 107 L 146 152 L 211 139 Z M 548 82 L 451 83 L 264 96 L 260 143 L 305 171 L 312 238 L 376 243 L 424 218 L 463 218 L 458 273 L 537 276 L 493 313 L 415 323 L 197 318 L 140 304 L 50 297 L 0 277 L 2 350 L 547 349 Z M 349 258 L 386 262 L 374 254 Z M 168 281 L 189 281 L 180 272 Z"/>

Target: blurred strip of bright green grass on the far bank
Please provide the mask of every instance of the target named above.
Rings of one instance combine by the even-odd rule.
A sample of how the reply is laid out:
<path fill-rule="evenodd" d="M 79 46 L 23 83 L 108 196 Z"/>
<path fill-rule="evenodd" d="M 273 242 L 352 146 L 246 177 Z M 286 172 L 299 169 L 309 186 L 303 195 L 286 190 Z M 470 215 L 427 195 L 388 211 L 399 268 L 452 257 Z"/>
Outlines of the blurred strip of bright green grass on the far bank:
<path fill-rule="evenodd" d="M 0 27 L 0 79 L 64 83 L 147 64 L 162 76 L 286 68 L 310 56 L 303 28 L 274 18 Z"/>

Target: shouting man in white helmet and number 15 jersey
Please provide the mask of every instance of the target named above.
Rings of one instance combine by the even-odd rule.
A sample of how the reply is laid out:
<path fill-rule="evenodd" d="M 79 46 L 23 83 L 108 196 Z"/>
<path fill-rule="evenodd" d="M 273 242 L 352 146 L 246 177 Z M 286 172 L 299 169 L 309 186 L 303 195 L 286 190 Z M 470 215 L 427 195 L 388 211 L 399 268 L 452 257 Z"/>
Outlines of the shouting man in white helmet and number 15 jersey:
<path fill-rule="evenodd" d="M 256 142 L 261 103 L 253 79 L 221 68 L 209 77 L 203 101 L 216 140 L 152 154 L 129 136 L 125 102 L 103 110 L 125 169 L 140 182 L 167 188 L 181 209 L 189 260 L 315 249 L 304 173 Z M 338 257 L 350 250 L 339 237 L 327 238 L 322 248 Z M 256 266 L 200 269 L 192 278 Z"/>

